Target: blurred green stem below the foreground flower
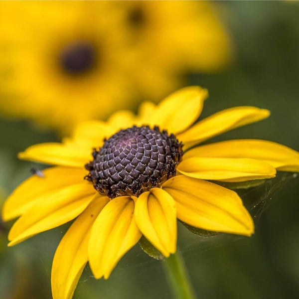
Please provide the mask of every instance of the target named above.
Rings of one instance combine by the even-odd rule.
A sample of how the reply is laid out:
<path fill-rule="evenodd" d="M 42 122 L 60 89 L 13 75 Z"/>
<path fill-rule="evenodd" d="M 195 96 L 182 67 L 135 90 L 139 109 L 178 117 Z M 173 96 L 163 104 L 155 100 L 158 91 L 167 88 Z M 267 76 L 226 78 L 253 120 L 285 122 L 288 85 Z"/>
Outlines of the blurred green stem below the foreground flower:
<path fill-rule="evenodd" d="M 175 254 L 163 260 L 163 265 L 173 298 L 195 299 L 196 296 L 181 253 L 177 250 Z"/>

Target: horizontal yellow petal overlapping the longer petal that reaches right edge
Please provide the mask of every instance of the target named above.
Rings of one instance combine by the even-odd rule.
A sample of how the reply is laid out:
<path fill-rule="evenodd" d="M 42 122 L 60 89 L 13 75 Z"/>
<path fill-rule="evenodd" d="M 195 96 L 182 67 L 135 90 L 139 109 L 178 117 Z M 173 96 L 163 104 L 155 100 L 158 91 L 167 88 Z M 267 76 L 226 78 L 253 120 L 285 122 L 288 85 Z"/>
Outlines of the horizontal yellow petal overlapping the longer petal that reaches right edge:
<path fill-rule="evenodd" d="M 276 169 L 268 163 L 246 158 L 187 158 L 179 163 L 177 170 L 190 177 L 228 182 L 270 178 L 276 174 Z"/>

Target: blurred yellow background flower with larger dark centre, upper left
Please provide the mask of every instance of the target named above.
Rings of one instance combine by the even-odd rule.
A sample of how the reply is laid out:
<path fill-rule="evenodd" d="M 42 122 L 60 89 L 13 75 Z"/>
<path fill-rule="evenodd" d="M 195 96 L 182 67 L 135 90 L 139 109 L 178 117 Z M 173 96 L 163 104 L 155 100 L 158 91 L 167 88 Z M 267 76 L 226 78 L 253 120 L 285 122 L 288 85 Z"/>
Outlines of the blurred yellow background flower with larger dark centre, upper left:
<path fill-rule="evenodd" d="M 127 107 L 127 35 L 113 7 L 1 2 L 0 109 L 70 132 L 78 122 Z"/>

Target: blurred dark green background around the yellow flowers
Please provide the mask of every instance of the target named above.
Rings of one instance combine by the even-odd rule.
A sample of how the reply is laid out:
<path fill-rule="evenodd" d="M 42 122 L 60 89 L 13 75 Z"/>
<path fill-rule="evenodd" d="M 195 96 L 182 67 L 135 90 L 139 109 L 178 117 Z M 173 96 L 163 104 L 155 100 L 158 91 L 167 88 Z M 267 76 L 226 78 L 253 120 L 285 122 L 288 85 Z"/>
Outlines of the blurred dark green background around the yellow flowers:
<path fill-rule="evenodd" d="M 237 57 L 222 73 L 189 75 L 190 84 L 206 87 L 210 93 L 201 117 L 242 105 L 267 108 L 272 115 L 214 140 L 260 138 L 299 150 L 299 2 L 216 4 L 233 37 Z M 30 175 L 34 165 L 18 161 L 16 153 L 58 137 L 54 132 L 38 132 L 28 122 L 4 118 L 0 119 L 0 134 L 0 196 L 4 199 Z M 179 227 L 179 247 L 198 298 L 283 299 L 299 295 L 299 184 L 293 177 L 279 184 L 283 188 L 268 196 L 251 238 L 203 240 Z M 0 225 L 0 298 L 51 298 L 51 262 L 68 226 L 7 249 L 9 225 Z M 108 281 L 96 281 L 85 269 L 74 298 L 170 298 L 161 264 L 136 246 Z"/>

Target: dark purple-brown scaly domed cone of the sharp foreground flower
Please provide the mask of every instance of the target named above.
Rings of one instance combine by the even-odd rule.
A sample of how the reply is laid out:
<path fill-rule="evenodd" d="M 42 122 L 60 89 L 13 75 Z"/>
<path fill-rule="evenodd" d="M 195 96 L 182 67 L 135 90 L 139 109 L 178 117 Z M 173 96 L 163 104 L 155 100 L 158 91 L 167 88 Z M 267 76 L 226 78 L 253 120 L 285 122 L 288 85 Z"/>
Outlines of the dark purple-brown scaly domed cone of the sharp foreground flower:
<path fill-rule="evenodd" d="M 182 143 L 158 127 L 121 130 L 94 149 L 93 160 L 85 165 L 86 178 L 95 189 L 110 198 L 139 196 L 175 175 L 182 158 Z"/>

